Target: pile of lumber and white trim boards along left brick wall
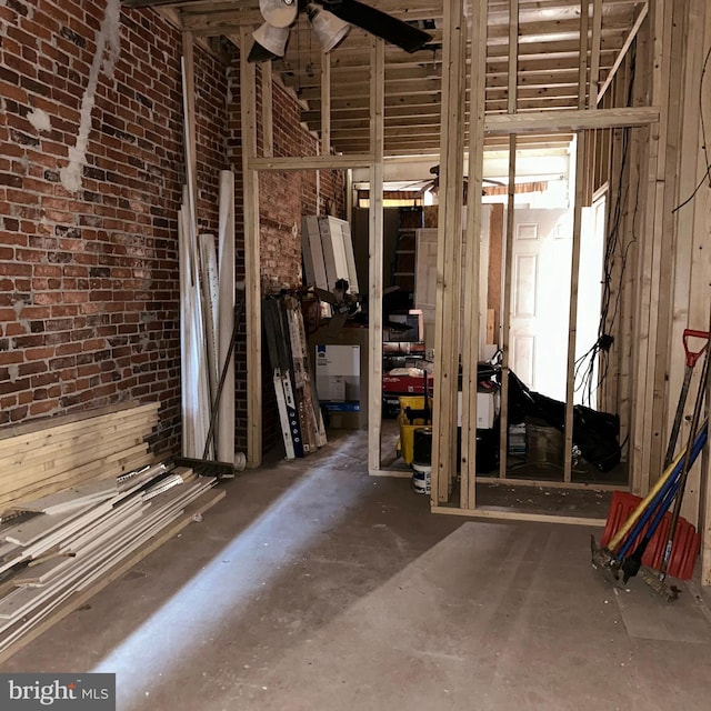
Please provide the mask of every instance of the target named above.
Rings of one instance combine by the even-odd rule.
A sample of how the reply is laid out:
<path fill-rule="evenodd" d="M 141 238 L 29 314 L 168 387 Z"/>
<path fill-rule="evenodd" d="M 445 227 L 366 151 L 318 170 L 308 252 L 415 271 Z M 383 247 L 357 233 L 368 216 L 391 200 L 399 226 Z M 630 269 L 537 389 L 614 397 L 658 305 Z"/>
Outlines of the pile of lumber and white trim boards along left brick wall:
<path fill-rule="evenodd" d="M 224 495 L 154 461 L 159 403 L 0 429 L 0 659 Z"/>

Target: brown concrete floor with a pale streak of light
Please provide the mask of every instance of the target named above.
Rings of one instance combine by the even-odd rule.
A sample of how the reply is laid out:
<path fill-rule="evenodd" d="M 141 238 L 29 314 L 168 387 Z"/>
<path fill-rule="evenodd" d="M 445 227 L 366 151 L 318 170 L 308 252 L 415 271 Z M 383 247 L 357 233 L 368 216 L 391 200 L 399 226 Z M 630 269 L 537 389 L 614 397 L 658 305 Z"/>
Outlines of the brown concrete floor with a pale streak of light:
<path fill-rule="evenodd" d="M 116 672 L 121 711 L 709 707 L 695 585 L 614 591 L 590 565 L 601 529 L 430 514 L 364 451 L 331 434 L 228 482 L 1 671 Z"/>

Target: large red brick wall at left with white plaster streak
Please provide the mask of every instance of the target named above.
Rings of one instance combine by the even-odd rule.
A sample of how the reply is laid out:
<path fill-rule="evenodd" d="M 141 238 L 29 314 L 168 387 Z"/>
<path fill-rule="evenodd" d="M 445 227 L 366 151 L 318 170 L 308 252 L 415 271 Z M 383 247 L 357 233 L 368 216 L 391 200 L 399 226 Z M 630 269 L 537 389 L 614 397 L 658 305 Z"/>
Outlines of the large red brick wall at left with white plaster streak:
<path fill-rule="evenodd" d="M 121 13 L 101 71 L 81 187 L 62 180 L 80 132 L 106 2 L 0 8 L 0 423 L 129 399 L 180 438 L 177 210 L 183 181 L 181 36 Z M 196 52 L 201 227 L 216 229 L 224 70 Z"/>

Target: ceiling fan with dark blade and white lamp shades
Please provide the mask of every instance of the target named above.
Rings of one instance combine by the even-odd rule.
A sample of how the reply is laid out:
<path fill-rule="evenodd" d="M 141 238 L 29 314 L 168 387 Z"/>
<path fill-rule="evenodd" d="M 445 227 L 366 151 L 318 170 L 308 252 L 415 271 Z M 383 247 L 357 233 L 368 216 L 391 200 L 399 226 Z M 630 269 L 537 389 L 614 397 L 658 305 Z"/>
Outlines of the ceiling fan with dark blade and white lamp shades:
<path fill-rule="evenodd" d="M 306 12 L 324 52 L 338 47 L 353 24 L 410 53 L 432 39 L 424 30 L 360 0 L 259 0 L 259 10 L 264 22 L 252 32 L 250 62 L 284 56 L 290 28 L 299 12 Z"/>

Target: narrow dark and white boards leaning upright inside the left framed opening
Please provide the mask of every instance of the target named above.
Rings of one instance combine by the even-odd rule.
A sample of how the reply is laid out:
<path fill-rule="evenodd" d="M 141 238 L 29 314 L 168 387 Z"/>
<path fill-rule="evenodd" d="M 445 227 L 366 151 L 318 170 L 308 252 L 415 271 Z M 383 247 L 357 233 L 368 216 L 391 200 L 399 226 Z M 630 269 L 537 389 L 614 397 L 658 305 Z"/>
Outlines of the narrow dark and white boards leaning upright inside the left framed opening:
<path fill-rule="evenodd" d="M 262 322 L 286 457 L 304 457 L 327 438 L 300 301 L 291 296 L 264 299 Z"/>

